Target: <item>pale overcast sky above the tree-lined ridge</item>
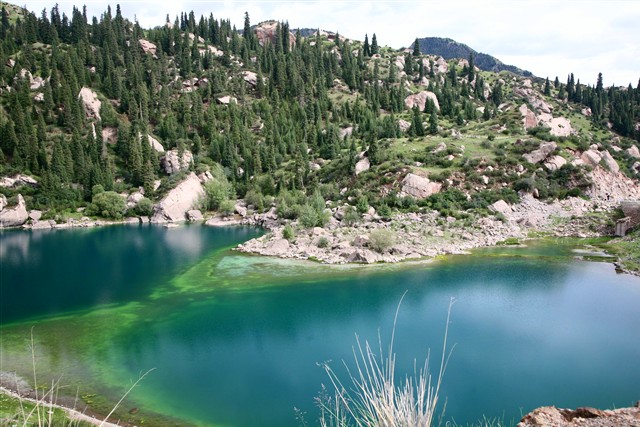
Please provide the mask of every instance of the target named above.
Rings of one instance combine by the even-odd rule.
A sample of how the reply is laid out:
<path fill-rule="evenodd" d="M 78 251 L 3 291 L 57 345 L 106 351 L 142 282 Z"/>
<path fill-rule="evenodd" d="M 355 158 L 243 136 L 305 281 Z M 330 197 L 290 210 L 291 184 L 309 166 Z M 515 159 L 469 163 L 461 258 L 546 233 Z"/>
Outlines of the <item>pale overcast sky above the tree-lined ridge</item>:
<path fill-rule="evenodd" d="M 16 1 L 18 4 L 22 4 Z M 56 1 L 30 0 L 40 16 Z M 83 3 L 58 0 L 71 16 Z M 571 72 L 582 83 L 595 84 L 602 72 L 605 86 L 634 87 L 640 78 L 640 0 L 423 0 L 423 1 L 87 1 L 89 17 L 108 4 L 120 3 L 123 15 L 144 28 L 163 25 L 180 12 L 194 11 L 230 19 L 242 28 L 244 12 L 252 24 L 267 19 L 288 21 L 291 28 L 321 28 L 363 40 L 376 33 L 378 43 L 409 46 L 416 37 L 448 37 L 506 64 L 539 77 L 566 81 Z"/>

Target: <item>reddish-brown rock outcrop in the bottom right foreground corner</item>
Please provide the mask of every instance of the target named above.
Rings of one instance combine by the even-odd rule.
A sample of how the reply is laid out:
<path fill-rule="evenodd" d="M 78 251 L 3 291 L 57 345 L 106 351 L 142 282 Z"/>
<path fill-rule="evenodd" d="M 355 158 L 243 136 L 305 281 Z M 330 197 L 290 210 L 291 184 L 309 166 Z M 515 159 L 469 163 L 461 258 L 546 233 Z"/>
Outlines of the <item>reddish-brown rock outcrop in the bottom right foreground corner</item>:
<path fill-rule="evenodd" d="M 538 408 L 525 415 L 518 427 L 637 427 L 640 408 L 559 409 L 555 406 Z"/>

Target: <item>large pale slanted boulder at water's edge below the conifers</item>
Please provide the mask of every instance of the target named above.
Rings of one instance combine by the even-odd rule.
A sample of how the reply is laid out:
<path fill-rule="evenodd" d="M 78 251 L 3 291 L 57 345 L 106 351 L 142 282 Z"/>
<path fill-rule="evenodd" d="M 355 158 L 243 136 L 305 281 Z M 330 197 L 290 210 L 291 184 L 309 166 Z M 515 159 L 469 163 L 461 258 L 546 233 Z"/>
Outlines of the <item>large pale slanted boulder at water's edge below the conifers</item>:
<path fill-rule="evenodd" d="M 204 197 L 204 187 L 191 172 L 176 188 L 153 207 L 152 223 L 184 221 L 186 213 Z"/>

